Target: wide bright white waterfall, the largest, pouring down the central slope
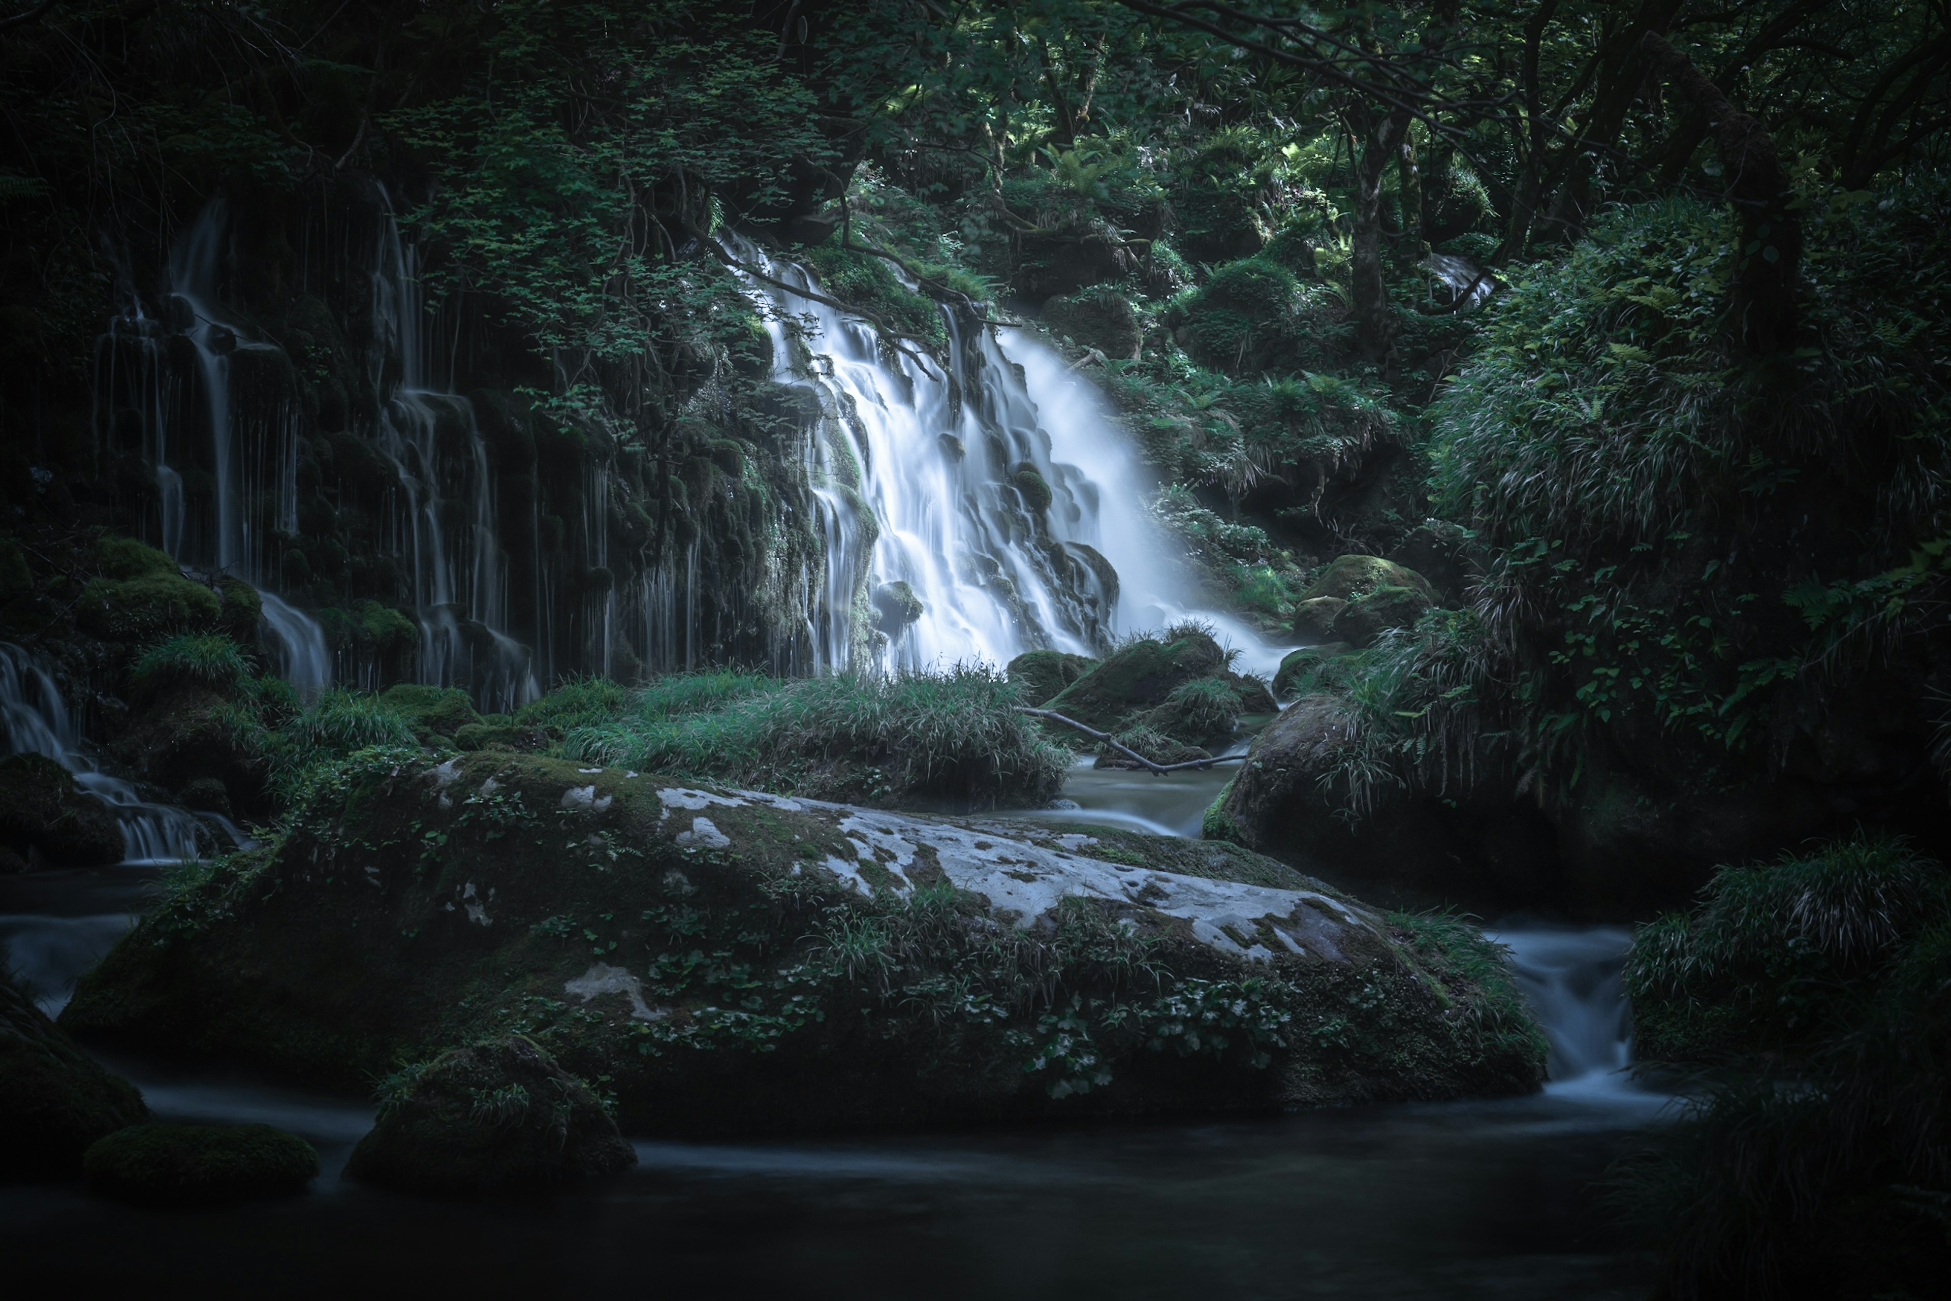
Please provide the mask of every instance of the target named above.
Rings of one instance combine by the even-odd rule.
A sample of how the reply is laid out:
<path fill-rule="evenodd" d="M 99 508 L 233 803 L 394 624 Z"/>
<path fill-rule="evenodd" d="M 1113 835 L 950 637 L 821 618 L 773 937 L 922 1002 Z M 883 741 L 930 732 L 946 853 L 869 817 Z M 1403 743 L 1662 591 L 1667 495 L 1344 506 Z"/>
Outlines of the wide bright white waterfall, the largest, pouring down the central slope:
<path fill-rule="evenodd" d="M 817 291 L 804 267 L 734 246 L 773 281 Z M 773 378 L 812 390 L 821 412 L 804 445 L 825 548 L 808 603 L 816 669 L 1098 655 L 1118 632 L 1178 618 L 1215 624 L 1249 669 L 1280 663 L 1247 624 L 1204 609 L 1145 509 L 1130 435 L 1050 347 L 944 310 L 944 369 L 792 289 L 747 277 Z M 903 583 L 921 607 L 911 620 Z"/>

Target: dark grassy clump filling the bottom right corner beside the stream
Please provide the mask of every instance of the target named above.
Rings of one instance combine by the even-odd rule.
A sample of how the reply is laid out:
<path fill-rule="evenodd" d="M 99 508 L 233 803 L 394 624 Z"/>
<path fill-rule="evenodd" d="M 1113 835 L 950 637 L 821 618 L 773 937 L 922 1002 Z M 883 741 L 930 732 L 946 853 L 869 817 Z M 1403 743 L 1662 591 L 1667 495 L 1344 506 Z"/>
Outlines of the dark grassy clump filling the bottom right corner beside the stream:
<path fill-rule="evenodd" d="M 1693 1071 L 1680 1122 L 1615 1170 L 1666 1295 L 1941 1283 L 1951 872 L 1869 835 L 1721 868 L 1641 928 L 1625 981 L 1641 1057 Z"/>

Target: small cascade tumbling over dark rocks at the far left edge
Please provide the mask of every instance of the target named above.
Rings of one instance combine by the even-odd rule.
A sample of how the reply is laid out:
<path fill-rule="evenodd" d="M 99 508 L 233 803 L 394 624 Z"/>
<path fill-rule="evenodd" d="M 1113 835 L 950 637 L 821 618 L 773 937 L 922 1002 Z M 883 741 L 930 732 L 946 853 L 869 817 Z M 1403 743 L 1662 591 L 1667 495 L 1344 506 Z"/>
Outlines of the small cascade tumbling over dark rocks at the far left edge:
<path fill-rule="evenodd" d="M 6 753 L 47 755 L 74 774 L 74 784 L 107 804 L 123 829 L 129 862 L 181 862 L 220 848 L 217 833 L 232 845 L 246 837 L 217 813 L 191 813 L 174 804 L 150 804 L 129 782 L 101 772 L 82 753 L 74 720 L 53 673 L 12 642 L 0 642 L 0 722 Z"/>

